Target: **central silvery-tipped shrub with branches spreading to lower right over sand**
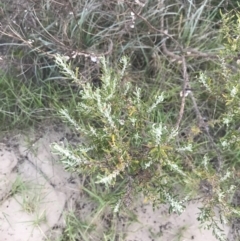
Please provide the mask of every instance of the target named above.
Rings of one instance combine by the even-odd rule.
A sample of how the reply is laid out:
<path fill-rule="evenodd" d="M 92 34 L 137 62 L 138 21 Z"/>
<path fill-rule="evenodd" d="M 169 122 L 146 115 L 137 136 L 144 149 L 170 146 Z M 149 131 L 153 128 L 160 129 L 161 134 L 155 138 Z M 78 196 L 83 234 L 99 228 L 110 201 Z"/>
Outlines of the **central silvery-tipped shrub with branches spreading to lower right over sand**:
<path fill-rule="evenodd" d="M 181 213 L 186 201 L 194 197 L 189 190 L 206 189 L 206 206 L 199 220 L 210 222 L 206 227 L 214 228 L 215 236 L 220 237 L 220 229 L 213 222 L 216 204 L 220 215 L 238 213 L 229 202 L 235 190 L 232 169 L 217 173 L 209 163 L 214 150 L 204 152 L 204 143 L 178 139 L 179 130 L 164 118 L 165 94 L 143 98 L 139 87 L 122 81 L 128 59 L 123 57 L 121 63 L 120 70 L 113 70 L 102 58 L 101 87 L 96 89 L 89 83 L 82 86 L 76 106 L 79 120 L 67 109 L 60 110 L 63 119 L 82 135 L 83 143 L 74 149 L 58 144 L 53 148 L 62 155 L 66 169 L 97 175 L 97 183 L 117 186 L 126 180 L 123 203 L 140 191 L 155 204 L 168 203 L 170 211 Z M 183 187 L 188 189 L 184 195 Z"/>

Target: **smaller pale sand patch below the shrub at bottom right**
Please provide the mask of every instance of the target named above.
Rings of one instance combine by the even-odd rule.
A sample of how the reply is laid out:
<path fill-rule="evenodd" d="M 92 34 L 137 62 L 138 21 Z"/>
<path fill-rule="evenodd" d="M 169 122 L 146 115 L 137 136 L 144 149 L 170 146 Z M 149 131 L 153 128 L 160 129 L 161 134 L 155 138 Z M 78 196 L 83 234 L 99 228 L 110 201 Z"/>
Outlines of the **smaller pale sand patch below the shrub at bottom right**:
<path fill-rule="evenodd" d="M 127 241 L 217 241 L 211 230 L 200 228 L 197 216 L 201 203 L 189 203 L 186 210 L 181 214 L 169 214 L 168 206 L 153 210 L 149 204 L 141 204 L 135 209 L 138 222 L 130 225 Z M 228 233 L 229 228 L 220 227 Z"/>

